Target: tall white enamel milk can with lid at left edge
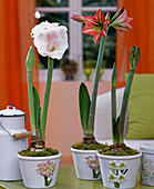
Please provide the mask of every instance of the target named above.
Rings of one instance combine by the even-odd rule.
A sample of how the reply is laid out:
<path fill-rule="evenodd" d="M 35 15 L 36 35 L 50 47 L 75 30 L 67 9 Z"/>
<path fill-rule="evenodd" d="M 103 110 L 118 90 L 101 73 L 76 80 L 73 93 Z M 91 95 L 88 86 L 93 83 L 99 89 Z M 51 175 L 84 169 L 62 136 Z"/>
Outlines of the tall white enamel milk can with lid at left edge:
<path fill-rule="evenodd" d="M 14 140 L 14 133 L 27 132 L 25 113 L 13 106 L 0 111 L 0 180 L 21 180 L 17 153 L 28 148 L 28 139 Z"/>

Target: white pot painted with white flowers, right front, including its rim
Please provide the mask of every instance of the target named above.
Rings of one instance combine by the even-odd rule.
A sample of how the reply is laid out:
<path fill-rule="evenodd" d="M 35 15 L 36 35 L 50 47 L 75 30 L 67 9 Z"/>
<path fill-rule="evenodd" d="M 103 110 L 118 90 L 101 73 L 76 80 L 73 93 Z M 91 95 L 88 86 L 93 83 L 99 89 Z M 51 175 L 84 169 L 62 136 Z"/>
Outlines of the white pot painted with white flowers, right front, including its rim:
<path fill-rule="evenodd" d="M 142 153 L 134 156 L 104 156 L 97 152 L 104 187 L 135 187 L 141 156 Z"/>

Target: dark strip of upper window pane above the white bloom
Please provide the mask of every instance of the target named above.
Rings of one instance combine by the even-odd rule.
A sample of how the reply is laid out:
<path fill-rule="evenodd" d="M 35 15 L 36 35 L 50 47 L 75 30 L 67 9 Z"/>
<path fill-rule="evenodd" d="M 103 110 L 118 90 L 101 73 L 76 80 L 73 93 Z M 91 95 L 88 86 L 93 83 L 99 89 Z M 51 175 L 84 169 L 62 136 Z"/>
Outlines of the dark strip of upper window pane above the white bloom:
<path fill-rule="evenodd" d="M 37 7 L 68 7 L 68 0 L 37 0 Z"/>

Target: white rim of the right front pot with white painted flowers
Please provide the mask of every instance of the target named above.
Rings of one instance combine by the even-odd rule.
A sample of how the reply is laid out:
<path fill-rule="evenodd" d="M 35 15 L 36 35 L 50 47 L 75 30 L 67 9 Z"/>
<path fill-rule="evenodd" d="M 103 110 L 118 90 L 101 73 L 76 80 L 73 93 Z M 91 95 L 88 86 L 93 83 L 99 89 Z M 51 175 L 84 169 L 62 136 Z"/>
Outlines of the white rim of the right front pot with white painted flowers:
<path fill-rule="evenodd" d="M 115 159 L 115 160 L 123 160 L 123 159 L 136 159 L 140 158 L 142 156 L 142 152 L 140 152 L 138 155 L 133 155 L 133 156 L 107 156 L 107 155 L 101 155 L 101 153 L 96 153 L 99 158 L 102 159 Z"/>

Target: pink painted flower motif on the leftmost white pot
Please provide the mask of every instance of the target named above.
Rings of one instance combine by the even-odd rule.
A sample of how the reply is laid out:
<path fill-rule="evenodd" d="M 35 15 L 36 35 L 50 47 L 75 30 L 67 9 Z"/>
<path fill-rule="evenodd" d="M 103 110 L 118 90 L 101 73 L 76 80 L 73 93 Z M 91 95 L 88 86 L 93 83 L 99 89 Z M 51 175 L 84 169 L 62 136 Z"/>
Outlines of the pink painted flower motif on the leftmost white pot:
<path fill-rule="evenodd" d="M 55 170 L 55 163 L 48 160 L 47 162 L 39 163 L 37 167 L 38 173 L 44 177 L 44 185 L 50 186 Z"/>

